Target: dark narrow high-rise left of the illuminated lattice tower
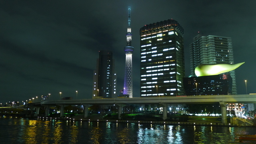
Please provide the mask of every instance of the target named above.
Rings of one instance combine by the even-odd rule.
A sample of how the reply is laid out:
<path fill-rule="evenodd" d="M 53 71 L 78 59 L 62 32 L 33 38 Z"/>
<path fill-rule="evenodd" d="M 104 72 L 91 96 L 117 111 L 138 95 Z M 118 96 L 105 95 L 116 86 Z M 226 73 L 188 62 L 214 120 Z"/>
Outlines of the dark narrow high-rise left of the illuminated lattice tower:
<path fill-rule="evenodd" d="M 111 51 L 100 51 L 94 70 L 92 98 L 116 98 L 116 73 Z"/>

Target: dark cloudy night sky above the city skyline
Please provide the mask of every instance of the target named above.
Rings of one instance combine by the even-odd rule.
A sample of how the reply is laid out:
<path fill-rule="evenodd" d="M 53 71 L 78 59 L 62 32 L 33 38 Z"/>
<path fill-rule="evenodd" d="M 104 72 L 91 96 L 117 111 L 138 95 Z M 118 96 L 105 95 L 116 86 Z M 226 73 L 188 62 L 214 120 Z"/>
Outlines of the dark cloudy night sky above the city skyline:
<path fill-rule="evenodd" d="M 92 97 L 99 50 L 111 50 L 124 85 L 126 28 L 131 6 L 133 96 L 140 94 L 140 35 L 145 24 L 174 19 L 189 44 L 198 34 L 232 38 L 238 94 L 256 93 L 256 1 L 234 0 L 1 0 L 0 102 Z M 38 99 L 39 100 L 39 99 Z"/>

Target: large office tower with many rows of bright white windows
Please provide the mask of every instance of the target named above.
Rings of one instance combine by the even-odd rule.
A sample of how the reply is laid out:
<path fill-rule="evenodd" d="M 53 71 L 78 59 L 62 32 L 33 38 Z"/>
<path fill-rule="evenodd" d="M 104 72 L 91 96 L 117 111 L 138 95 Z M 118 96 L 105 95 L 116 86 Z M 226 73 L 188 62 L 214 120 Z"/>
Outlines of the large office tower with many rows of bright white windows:
<path fill-rule="evenodd" d="M 184 29 L 176 20 L 140 28 L 140 96 L 184 95 Z"/>

